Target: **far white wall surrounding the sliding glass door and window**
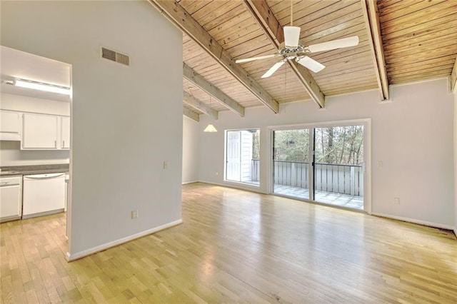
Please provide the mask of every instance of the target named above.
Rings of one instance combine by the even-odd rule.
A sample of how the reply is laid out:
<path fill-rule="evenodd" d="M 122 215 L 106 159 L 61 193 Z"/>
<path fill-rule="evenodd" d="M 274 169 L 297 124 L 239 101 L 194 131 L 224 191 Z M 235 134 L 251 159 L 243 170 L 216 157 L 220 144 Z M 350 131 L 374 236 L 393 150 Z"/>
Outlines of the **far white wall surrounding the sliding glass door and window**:
<path fill-rule="evenodd" d="M 247 108 L 246 117 L 224 111 L 214 123 L 219 132 L 200 136 L 199 180 L 224 182 L 224 130 L 261 128 L 261 185 L 268 191 L 268 128 L 294 123 L 318 123 L 371 118 L 372 212 L 452 228 L 453 96 L 446 79 L 394 86 L 391 103 L 379 103 L 377 91 L 334 96 L 326 109 L 311 102 L 286 103 L 280 113 Z M 200 128 L 211 121 L 201 116 Z M 201 130 L 202 131 L 202 130 Z M 216 175 L 219 172 L 219 175 Z M 256 188 L 242 186 L 255 190 Z M 393 198 L 400 198 L 400 205 Z"/>

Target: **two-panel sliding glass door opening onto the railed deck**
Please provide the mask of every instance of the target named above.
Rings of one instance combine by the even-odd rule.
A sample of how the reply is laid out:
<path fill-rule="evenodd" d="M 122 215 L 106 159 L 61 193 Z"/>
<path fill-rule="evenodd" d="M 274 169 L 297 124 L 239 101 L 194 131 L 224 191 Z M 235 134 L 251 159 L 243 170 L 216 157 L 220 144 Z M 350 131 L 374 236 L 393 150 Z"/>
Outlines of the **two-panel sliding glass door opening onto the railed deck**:
<path fill-rule="evenodd" d="M 363 209 L 363 124 L 273 131 L 273 193 Z"/>

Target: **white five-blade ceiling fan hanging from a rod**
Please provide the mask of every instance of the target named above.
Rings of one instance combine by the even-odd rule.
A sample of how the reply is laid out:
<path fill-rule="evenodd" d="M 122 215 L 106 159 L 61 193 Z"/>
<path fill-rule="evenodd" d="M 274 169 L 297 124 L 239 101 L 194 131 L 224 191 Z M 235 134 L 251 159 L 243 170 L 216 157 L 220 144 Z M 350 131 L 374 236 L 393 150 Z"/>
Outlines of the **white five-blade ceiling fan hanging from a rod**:
<path fill-rule="evenodd" d="M 322 71 L 324 66 L 318 61 L 308 57 L 308 54 L 316 53 L 319 51 L 331 51 L 333 49 L 346 48 L 348 46 L 358 45 L 358 36 L 351 36 L 343 39 L 336 39 L 332 41 L 323 42 L 321 44 L 311 44 L 309 46 L 301 46 L 298 44 L 300 39 L 300 27 L 292 26 L 292 3 L 291 3 L 291 25 L 284 26 L 284 42 L 279 46 L 278 54 L 270 54 L 265 56 L 251 57 L 246 59 L 238 59 L 235 62 L 241 64 L 243 62 L 254 61 L 259 59 L 268 59 L 279 57 L 281 60 L 273 64 L 271 68 L 262 75 L 261 78 L 267 78 L 273 75 L 274 72 L 278 71 L 281 66 L 289 60 L 295 60 L 298 64 L 310 69 L 314 73 Z"/>

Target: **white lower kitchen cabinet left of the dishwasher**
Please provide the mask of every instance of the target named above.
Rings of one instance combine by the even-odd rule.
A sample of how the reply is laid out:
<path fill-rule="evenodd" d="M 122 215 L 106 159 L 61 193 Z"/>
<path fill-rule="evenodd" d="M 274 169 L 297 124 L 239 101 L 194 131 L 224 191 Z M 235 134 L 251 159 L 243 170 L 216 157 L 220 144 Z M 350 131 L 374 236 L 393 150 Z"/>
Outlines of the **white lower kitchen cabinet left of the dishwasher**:
<path fill-rule="evenodd" d="M 14 178 L 0 179 L 0 219 L 20 218 L 22 211 L 21 184 Z"/>

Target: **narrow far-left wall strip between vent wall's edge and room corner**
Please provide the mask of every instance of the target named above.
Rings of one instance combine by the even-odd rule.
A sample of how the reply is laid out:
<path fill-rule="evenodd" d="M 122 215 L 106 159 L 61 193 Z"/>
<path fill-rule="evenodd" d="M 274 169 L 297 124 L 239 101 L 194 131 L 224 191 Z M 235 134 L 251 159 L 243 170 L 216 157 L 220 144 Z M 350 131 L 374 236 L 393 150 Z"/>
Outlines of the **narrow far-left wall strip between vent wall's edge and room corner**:
<path fill-rule="evenodd" d="M 183 116 L 183 183 L 199 181 L 199 123 Z"/>

